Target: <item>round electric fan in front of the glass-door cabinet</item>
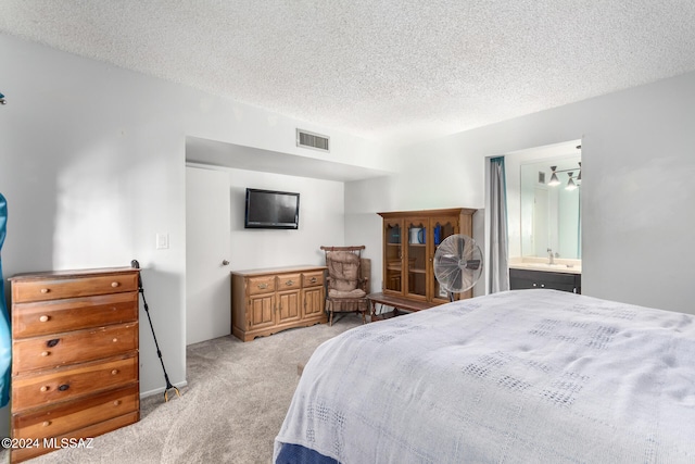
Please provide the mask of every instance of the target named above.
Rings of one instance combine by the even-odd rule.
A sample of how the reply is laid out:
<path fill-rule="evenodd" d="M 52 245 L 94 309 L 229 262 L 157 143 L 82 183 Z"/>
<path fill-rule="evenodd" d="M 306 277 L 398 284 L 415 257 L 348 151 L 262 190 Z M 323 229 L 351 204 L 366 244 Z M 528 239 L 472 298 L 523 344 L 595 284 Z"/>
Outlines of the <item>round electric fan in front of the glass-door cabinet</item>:
<path fill-rule="evenodd" d="M 434 252 L 434 277 L 440 287 L 454 293 L 470 289 L 482 274 L 482 251 L 472 238 L 457 234 L 446 237 Z"/>

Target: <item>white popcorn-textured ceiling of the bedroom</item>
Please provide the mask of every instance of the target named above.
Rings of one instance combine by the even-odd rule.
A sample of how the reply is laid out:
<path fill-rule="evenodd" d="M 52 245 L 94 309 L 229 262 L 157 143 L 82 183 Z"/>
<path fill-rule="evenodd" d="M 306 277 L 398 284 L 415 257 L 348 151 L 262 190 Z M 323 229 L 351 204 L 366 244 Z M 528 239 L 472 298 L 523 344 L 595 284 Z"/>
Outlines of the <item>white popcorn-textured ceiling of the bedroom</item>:
<path fill-rule="evenodd" d="M 0 32 L 396 142 L 695 70 L 692 0 L 2 0 Z"/>

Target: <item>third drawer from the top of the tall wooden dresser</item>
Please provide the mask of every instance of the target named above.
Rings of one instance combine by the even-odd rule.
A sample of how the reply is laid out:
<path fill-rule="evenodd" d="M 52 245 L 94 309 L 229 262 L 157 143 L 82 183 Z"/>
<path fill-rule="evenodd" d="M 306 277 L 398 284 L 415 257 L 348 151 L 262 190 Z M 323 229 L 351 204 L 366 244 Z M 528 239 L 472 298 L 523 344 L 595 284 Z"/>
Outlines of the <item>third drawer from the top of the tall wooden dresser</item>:
<path fill-rule="evenodd" d="M 138 349 L 138 323 L 118 324 L 12 342 L 12 375 L 110 358 Z"/>

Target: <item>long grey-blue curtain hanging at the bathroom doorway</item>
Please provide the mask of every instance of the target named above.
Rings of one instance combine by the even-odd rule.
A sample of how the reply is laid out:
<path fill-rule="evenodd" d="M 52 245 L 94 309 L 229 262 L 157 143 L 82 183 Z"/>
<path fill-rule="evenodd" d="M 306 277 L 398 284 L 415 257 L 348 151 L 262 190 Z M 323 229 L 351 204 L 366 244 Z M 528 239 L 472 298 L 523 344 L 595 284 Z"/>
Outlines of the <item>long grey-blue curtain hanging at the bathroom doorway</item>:
<path fill-rule="evenodd" d="M 507 181 L 504 156 L 490 159 L 490 293 L 509 290 Z"/>

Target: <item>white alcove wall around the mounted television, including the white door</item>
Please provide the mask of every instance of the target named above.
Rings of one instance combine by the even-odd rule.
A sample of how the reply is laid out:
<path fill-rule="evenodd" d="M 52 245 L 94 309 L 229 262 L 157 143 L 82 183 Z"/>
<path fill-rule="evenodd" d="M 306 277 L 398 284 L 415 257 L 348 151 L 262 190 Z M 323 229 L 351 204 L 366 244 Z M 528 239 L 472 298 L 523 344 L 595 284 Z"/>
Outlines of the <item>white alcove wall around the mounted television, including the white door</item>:
<path fill-rule="evenodd" d="M 189 164 L 186 180 L 188 344 L 231 333 L 229 271 L 323 265 L 319 247 L 343 243 L 343 183 L 199 164 Z M 247 188 L 299 192 L 299 228 L 245 229 Z M 191 243 L 193 236 L 198 243 Z M 197 256 L 206 256 L 202 261 L 207 264 L 200 268 Z M 229 266 L 211 268 L 210 258 L 218 263 L 226 259 Z"/>

